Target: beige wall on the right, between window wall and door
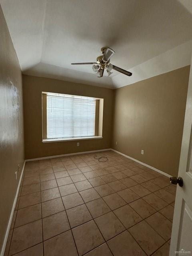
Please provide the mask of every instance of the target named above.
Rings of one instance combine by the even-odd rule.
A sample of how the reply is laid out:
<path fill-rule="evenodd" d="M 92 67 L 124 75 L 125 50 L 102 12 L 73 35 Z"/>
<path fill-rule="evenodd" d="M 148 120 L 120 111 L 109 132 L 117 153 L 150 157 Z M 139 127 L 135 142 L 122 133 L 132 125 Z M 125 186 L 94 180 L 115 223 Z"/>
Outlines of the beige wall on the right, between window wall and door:
<path fill-rule="evenodd" d="M 115 90 L 112 148 L 177 176 L 189 70 L 186 66 Z"/>

